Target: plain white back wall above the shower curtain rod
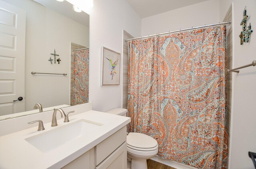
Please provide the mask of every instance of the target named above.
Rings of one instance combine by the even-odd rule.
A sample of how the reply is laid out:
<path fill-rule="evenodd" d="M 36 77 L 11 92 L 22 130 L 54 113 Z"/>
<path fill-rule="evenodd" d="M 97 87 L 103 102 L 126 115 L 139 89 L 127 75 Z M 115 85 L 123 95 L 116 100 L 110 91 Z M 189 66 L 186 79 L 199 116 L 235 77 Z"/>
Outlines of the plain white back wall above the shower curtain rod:
<path fill-rule="evenodd" d="M 218 23 L 218 0 L 208 0 L 142 19 L 142 36 Z"/>

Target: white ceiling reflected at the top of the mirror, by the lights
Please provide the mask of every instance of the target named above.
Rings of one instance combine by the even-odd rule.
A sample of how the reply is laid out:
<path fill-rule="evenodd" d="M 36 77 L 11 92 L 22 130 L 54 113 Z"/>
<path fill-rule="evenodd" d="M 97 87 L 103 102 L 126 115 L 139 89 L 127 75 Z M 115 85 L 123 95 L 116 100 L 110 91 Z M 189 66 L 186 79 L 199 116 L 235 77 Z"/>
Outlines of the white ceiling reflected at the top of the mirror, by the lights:
<path fill-rule="evenodd" d="M 85 12 L 75 12 L 73 5 L 67 1 L 58 2 L 56 0 L 34 0 L 46 8 L 53 10 L 67 18 L 70 18 L 89 28 L 89 15 Z"/>

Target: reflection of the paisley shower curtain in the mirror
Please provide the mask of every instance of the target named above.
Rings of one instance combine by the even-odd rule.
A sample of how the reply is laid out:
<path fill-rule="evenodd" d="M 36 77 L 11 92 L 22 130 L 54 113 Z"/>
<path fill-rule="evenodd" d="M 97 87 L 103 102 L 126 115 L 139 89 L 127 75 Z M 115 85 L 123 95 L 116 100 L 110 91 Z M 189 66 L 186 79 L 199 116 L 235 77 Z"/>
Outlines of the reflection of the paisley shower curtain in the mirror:
<path fill-rule="evenodd" d="M 89 48 L 73 51 L 73 56 L 72 106 L 89 101 Z"/>

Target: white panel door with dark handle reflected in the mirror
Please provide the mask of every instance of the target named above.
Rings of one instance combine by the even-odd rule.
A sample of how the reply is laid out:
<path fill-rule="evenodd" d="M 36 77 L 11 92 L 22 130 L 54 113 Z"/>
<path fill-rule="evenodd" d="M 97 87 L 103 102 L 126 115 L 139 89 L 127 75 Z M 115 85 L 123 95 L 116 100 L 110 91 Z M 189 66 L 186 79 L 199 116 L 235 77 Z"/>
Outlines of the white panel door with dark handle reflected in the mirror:
<path fill-rule="evenodd" d="M 0 116 L 25 110 L 25 33 L 26 11 L 0 0 Z"/>

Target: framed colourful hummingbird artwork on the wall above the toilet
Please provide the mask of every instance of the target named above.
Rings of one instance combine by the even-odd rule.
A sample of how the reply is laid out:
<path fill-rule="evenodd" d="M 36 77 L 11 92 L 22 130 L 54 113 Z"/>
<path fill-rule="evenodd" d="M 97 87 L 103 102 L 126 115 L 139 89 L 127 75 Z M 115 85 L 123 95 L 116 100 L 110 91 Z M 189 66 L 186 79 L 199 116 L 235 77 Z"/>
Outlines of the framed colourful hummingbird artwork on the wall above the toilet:
<path fill-rule="evenodd" d="M 102 47 L 100 85 L 120 85 L 120 53 Z"/>

